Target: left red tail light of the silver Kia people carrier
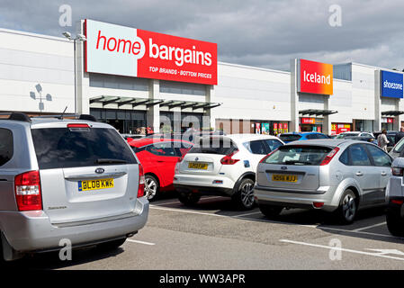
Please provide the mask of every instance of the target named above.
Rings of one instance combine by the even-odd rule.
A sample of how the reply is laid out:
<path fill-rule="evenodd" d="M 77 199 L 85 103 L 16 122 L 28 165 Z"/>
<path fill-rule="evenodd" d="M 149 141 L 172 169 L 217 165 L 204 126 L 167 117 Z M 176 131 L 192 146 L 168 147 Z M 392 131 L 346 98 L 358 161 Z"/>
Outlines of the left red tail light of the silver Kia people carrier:
<path fill-rule="evenodd" d="M 15 200 L 18 211 L 42 210 L 40 171 L 25 172 L 14 178 Z"/>

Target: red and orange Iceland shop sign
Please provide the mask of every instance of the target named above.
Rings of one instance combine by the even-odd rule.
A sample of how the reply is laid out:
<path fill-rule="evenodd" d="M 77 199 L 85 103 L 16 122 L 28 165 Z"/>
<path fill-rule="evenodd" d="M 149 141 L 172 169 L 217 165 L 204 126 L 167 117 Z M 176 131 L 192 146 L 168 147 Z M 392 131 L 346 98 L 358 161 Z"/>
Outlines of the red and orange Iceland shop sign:
<path fill-rule="evenodd" d="M 310 94 L 334 94 L 333 66 L 309 60 L 298 60 L 298 91 Z"/>

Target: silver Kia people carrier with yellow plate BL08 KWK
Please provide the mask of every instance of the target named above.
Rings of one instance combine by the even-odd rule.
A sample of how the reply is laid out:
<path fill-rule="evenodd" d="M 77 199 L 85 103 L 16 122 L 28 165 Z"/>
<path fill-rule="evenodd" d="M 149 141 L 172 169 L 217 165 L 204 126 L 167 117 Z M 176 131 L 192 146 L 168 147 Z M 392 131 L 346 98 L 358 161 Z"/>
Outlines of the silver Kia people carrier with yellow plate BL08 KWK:
<path fill-rule="evenodd" d="M 142 166 L 112 126 L 91 117 L 0 120 L 4 260 L 57 250 L 61 239 L 119 247 L 145 226 Z"/>

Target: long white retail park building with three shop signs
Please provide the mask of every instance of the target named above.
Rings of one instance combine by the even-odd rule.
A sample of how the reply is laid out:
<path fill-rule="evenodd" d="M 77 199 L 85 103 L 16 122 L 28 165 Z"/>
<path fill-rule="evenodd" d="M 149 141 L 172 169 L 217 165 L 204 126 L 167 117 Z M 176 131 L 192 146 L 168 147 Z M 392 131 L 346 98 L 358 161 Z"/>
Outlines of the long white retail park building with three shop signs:
<path fill-rule="evenodd" d="M 91 20 L 76 26 L 86 37 L 76 52 L 66 38 L 0 30 L 0 112 L 76 106 L 124 133 L 157 132 L 162 121 L 174 130 L 192 121 L 271 134 L 398 130 L 404 122 L 398 71 L 304 59 L 292 59 L 290 72 L 247 67 L 218 62 L 215 43 Z"/>

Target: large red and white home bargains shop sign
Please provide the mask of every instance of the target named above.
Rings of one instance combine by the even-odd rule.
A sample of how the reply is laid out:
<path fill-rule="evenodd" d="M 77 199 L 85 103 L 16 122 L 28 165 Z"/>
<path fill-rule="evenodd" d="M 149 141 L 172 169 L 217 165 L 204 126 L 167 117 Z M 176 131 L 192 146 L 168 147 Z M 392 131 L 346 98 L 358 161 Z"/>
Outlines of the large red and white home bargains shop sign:
<path fill-rule="evenodd" d="M 216 43 L 85 20 L 85 71 L 217 85 Z"/>

